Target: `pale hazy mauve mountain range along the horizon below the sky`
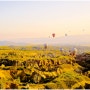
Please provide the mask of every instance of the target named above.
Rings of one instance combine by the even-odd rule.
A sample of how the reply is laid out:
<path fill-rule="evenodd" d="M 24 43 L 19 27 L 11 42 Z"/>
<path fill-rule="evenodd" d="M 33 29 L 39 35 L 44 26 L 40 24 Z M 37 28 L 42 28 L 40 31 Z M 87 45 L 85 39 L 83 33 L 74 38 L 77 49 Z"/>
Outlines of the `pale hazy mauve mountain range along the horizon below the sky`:
<path fill-rule="evenodd" d="M 90 45 L 90 35 L 63 36 L 55 38 L 18 38 L 9 41 L 0 41 L 0 45 L 26 45 L 45 43 L 52 45 Z"/>

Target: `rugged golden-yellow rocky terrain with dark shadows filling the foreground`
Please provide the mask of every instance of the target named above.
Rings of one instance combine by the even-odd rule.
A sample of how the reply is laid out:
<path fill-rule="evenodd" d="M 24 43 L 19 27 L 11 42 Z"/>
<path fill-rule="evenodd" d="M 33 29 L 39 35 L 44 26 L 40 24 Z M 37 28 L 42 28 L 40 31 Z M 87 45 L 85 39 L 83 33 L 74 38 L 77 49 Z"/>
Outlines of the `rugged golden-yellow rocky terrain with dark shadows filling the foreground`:
<path fill-rule="evenodd" d="M 1 89 L 90 89 L 90 54 L 1 50 Z"/>

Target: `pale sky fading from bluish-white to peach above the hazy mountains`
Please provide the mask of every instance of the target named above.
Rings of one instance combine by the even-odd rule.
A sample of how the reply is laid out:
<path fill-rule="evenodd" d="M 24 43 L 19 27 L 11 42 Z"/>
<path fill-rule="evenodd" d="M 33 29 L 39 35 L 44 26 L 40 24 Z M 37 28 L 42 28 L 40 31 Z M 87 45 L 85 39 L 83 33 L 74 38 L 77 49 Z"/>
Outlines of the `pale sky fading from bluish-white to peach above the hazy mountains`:
<path fill-rule="evenodd" d="M 90 1 L 0 1 L 0 40 L 90 34 Z"/>

